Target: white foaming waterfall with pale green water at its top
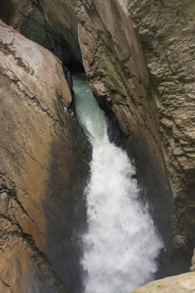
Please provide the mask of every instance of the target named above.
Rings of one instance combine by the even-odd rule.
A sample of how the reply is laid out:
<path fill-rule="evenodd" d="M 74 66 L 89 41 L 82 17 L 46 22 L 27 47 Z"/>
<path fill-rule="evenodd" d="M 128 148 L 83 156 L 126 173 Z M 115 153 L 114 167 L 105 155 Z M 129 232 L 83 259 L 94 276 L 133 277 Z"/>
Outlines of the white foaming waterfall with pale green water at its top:
<path fill-rule="evenodd" d="M 85 293 L 130 293 L 153 278 L 163 244 L 138 199 L 135 168 L 108 140 L 105 114 L 86 77 L 72 78 L 78 121 L 93 146 L 85 190 L 88 230 L 81 236 Z"/>

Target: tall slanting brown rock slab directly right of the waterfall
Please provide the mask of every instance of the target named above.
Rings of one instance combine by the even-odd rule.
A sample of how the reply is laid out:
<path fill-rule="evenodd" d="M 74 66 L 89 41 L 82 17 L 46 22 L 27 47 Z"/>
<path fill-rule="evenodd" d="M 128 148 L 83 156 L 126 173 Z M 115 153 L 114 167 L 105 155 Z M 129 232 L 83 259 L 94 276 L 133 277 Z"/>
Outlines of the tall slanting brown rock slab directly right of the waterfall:
<path fill-rule="evenodd" d="M 53 27 L 56 18 L 50 17 L 50 9 L 58 11 L 60 31 L 67 25 L 66 6 L 77 16 L 78 41 L 88 80 L 99 105 L 107 114 L 113 114 L 123 132 L 127 151 L 137 167 L 142 199 L 153 207 L 151 213 L 168 248 L 170 214 L 175 217 L 172 189 L 160 141 L 153 84 L 125 2 L 71 0 L 61 5 L 58 0 L 52 3 L 41 0 L 40 3 Z M 166 261 L 166 255 L 161 256 L 164 265 Z"/>

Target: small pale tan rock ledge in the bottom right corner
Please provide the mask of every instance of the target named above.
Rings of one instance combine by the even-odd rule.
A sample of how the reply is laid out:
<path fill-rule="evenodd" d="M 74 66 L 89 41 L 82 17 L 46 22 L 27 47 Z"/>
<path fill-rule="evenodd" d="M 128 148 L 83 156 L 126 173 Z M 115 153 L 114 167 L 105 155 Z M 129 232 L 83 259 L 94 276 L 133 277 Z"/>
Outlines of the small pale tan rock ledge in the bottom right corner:
<path fill-rule="evenodd" d="M 132 293 L 194 293 L 195 272 L 183 273 L 178 276 L 153 281 L 137 288 Z"/>

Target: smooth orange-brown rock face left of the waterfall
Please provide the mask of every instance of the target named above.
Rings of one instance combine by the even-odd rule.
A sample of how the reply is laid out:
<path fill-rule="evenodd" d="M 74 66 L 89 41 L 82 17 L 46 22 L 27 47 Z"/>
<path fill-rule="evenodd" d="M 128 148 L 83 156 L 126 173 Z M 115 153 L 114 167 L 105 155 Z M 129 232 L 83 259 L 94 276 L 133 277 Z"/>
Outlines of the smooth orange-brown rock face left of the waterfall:
<path fill-rule="evenodd" d="M 0 292 L 80 289 L 91 151 L 71 100 L 59 59 L 1 21 Z"/>

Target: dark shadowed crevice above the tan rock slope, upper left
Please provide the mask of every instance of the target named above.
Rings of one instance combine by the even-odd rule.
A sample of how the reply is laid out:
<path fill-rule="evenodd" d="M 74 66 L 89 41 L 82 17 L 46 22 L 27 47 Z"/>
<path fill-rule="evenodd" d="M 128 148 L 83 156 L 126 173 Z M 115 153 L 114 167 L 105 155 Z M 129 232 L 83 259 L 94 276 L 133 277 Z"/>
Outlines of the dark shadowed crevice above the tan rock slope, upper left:
<path fill-rule="evenodd" d="M 18 19 L 16 16 L 19 15 L 21 16 Z M 83 65 L 70 50 L 64 37 L 57 33 L 46 21 L 39 0 L 29 1 L 26 3 L 26 7 L 24 4 L 21 11 L 18 11 L 17 3 L 13 0 L 0 0 L 0 19 L 27 39 L 51 51 L 66 67 L 78 72 L 83 70 Z"/>

